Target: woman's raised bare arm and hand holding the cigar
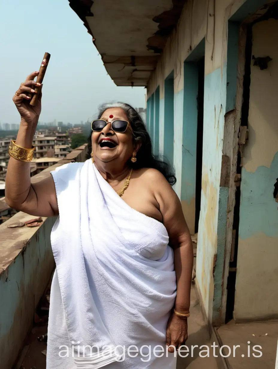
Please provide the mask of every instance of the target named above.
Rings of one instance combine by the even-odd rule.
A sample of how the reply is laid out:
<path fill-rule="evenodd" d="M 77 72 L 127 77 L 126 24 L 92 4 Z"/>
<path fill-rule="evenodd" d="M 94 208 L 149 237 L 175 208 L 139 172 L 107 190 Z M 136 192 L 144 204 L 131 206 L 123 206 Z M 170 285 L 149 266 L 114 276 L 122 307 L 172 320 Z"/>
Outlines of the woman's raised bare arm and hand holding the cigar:
<path fill-rule="evenodd" d="M 21 116 L 20 127 L 15 144 L 25 149 L 32 148 L 32 141 L 41 113 L 41 92 L 37 105 L 29 104 L 30 93 L 34 86 L 40 86 L 34 81 L 38 72 L 31 73 L 25 82 L 21 83 L 13 97 L 14 104 Z M 30 162 L 10 158 L 8 162 L 5 200 L 16 210 L 36 216 L 51 217 L 58 215 L 55 185 L 51 175 L 46 179 L 31 184 Z"/>

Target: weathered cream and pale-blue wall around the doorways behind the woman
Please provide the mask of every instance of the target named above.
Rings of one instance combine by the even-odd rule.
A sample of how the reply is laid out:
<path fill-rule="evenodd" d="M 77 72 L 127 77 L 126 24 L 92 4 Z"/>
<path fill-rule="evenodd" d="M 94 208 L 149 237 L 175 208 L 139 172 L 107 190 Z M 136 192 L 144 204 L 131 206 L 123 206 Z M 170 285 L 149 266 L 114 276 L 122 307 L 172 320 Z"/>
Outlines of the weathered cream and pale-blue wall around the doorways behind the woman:
<path fill-rule="evenodd" d="M 174 70 L 174 168 L 177 183 L 174 187 L 182 202 L 183 212 L 193 233 L 195 217 L 196 161 L 196 75 L 190 73 L 189 64 L 203 55 L 205 39 L 205 90 L 203 116 L 202 194 L 198 231 L 196 283 L 203 309 L 212 321 L 214 300 L 219 311 L 223 297 L 223 269 L 229 183 L 220 186 L 222 169 L 225 114 L 236 108 L 237 50 L 239 26 L 228 27 L 231 17 L 241 22 L 267 1 L 262 0 L 189 0 L 179 23 L 168 39 L 157 69 L 148 85 L 148 98 L 160 88 L 160 99 L 165 106 L 164 81 Z M 230 39 L 229 33 L 234 36 Z M 196 55 L 194 55 L 196 54 Z M 228 60 L 229 58 L 229 60 Z M 194 69 L 194 68 L 193 68 Z M 229 78 L 229 83 L 227 84 Z M 163 105 L 162 103 L 162 105 Z M 240 107 L 239 107 L 240 108 Z M 160 134 L 165 135 L 165 111 L 160 109 Z M 233 119 L 227 120 L 233 132 Z M 233 138 L 230 153 L 233 152 Z M 164 145 L 162 145 L 164 143 Z M 159 139 L 159 152 L 165 152 L 165 141 Z M 189 158 L 189 155 L 191 158 Z M 225 154 L 226 155 L 226 154 Z M 230 162 L 233 158 L 230 158 Z M 232 205 L 230 205 L 231 207 Z M 220 212 L 219 212 L 220 209 Z M 230 223 L 229 223 L 230 226 Z M 229 239 L 229 241 L 231 241 Z M 229 266 L 226 263 L 226 269 Z M 227 273 L 226 273 L 227 276 Z"/>

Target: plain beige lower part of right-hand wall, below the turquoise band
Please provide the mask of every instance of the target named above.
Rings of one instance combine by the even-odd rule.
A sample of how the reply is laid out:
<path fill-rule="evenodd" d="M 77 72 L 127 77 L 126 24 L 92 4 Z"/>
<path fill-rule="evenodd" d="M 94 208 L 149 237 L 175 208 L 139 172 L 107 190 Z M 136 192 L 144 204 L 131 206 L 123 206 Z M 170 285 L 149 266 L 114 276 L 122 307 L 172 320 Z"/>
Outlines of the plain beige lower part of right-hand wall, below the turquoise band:
<path fill-rule="evenodd" d="M 234 317 L 237 321 L 278 318 L 278 238 L 260 232 L 238 239 Z"/>

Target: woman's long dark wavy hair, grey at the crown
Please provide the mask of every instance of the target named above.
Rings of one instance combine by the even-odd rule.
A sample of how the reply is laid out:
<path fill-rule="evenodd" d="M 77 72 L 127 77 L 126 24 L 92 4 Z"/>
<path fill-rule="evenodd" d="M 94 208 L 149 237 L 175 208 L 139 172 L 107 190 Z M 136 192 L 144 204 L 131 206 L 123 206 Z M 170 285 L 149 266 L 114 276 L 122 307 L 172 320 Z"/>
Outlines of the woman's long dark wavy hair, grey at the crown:
<path fill-rule="evenodd" d="M 169 165 L 167 159 L 161 156 L 154 155 L 152 153 L 152 142 L 151 137 L 146 130 L 146 126 L 137 111 L 130 105 L 126 103 L 106 103 L 99 106 L 99 114 L 97 119 L 100 119 L 105 110 L 109 108 L 122 108 L 130 122 L 131 128 L 133 130 L 134 142 L 141 141 L 141 147 L 137 151 L 137 161 L 132 163 L 130 161 L 130 166 L 134 169 L 141 168 L 154 168 L 159 170 L 160 173 L 164 175 L 167 181 L 173 186 L 176 183 L 176 177 L 174 170 Z M 90 158 L 90 153 L 92 152 L 92 132 L 88 137 L 88 158 Z M 162 158 L 164 160 L 162 160 Z"/>

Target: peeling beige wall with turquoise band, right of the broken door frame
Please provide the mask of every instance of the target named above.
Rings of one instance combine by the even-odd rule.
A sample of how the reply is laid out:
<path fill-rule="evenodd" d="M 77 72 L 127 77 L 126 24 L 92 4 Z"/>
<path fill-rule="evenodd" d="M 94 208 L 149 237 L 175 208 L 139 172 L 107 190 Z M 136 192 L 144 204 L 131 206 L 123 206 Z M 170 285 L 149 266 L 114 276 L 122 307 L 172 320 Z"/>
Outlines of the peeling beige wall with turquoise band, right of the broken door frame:
<path fill-rule="evenodd" d="M 252 55 L 270 56 L 268 68 L 251 63 L 248 141 L 241 173 L 240 226 L 234 318 L 278 317 L 278 20 L 253 26 Z"/>

